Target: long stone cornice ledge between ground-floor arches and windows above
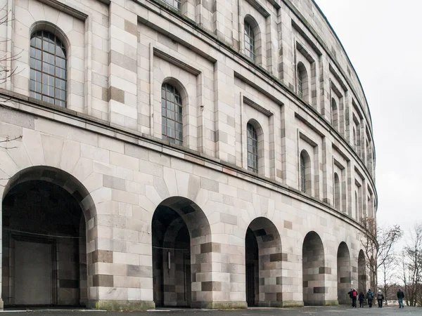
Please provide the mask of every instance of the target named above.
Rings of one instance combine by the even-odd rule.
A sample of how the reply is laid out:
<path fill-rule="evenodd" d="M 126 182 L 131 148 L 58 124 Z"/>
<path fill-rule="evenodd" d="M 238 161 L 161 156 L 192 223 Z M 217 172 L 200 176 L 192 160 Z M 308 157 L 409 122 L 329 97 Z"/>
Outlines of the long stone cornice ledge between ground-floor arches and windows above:
<path fill-rule="evenodd" d="M 261 187 L 267 187 L 269 190 L 274 190 L 279 192 L 283 195 L 288 195 L 293 197 L 294 199 L 298 199 L 301 202 L 309 204 L 311 206 L 319 207 L 326 213 L 330 213 L 333 216 L 338 217 L 340 220 L 345 221 L 350 225 L 356 225 L 359 228 L 359 223 L 352 220 L 347 214 L 340 213 L 337 210 L 333 209 L 330 204 L 326 202 L 322 202 L 315 197 L 304 195 L 300 190 L 295 189 L 294 187 L 290 187 L 289 185 L 285 185 L 283 183 L 276 182 L 270 178 L 265 178 L 262 176 L 257 176 L 255 173 L 250 171 L 243 170 L 236 165 L 229 164 L 226 162 L 222 162 L 219 159 L 215 159 L 212 157 L 207 157 L 204 154 L 200 154 L 194 150 L 189 150 L 186 147 L 181 147 L 178 145 L 173 145 L 165 140 L 160 140 L 158 138 L 153 138 L 152 136 L 146 135 L 144 133 L 137 133 L 136 131 L 132 131 L 129 129 L 124 129 L 121 126 L 113 126 L 108 121 L 104 121 L 102 119 L 96 119 L 91 117 L 87 114 L 75 112 L 73 110 L 68 110 L 63 107 L 59 107 L 57 105 L 51 105 L 49 103 L 36 100 L 34 98 L 30 98 L 27 96 L 23 96 L 20 93 L 15 93 L 8 91 L 4 88 L 0 88 L 0 99 L 4 98 L 7 100 L 7 103 L 15 102 L 18 103 L 19 107 L 13 107 L 13 105 L 3 105 L 4 107 L 16 110 L 20 112 L 25 112 L 27 114 L 31 114 L 37 117 L 44 117 L 45 119 L 49 119 L 51 121 L 60 121 L 60 119 L 56 117 L 49 117 L 47 115 L 42 115 L 40 113 L 34 113 L 29 109 L 25 109 L 23 107 L 35 107 L 41 111 L 45 112 L 53 112 L 56 114 L 57 117 L 63 116 L 70 119 L 75 119 L 79 122 L 84 122 L 87 125 L 91 125 L 94 128 L 89 129 L 89 126 L 81 126 L 80 124 L 72 124 L 71 120 L 60 121 L 60 123 L 65 125 L 74 126 L 77 129 L 85 129 L 87 131 L 95 132 L 101 134 L 103 136 L 108 137 L 115 137 L 119 140 L 122 140 L 127 143 L 132 143 L 134 145 L 139 145 L 141 147 L 148 148 L 148 150 L 154 150 L 156 152 L 161 152 L 162 154 L 167 154 L 171 157 L 178 158 L 178 159 L 186 159 L 192 164 L 198 164 L 200 166 L 206 166 L 210 169 L 215 171 L 219 171 L 222 173 L 226 173 L 229 176 L 234 176 L 236 178 L 241 178 L 242 180 L 248 181 L 250 183 L 254 183 L 255 185 L 260 185 Z M 103 129 L 103 131 L 101 131 Z M 110 134 L 110 131 L 112 132 Z M 361 225 L 362 226 L 362 225 Z"/>

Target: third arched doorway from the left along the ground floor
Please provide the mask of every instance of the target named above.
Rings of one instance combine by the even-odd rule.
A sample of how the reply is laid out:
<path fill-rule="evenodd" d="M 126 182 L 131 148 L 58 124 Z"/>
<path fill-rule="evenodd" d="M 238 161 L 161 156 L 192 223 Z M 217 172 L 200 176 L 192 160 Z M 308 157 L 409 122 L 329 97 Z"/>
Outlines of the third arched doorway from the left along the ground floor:
<path fill-rule="evenodd" d="M 252 220 L 245 236 L 246 302 L 248 306 L 282 306 L 282 261 L 279 231 L 268 218 Z"/>

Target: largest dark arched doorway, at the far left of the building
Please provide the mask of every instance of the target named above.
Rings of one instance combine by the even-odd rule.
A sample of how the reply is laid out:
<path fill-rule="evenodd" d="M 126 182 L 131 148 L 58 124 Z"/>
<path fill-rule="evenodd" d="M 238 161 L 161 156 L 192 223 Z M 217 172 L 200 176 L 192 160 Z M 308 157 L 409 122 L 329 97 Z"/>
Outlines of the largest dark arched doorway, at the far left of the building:
<path fill-rule="evenodd" d="M 16 173 L 4 189 L 4 305 L 86 305 L 89 192 L 47 166 Z"/>

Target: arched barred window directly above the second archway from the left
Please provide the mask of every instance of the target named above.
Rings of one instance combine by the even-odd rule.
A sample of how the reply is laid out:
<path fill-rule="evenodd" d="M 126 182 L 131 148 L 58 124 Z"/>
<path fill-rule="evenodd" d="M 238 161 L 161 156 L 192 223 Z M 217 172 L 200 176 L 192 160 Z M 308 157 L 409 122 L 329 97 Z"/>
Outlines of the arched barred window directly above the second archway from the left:
<path fill-rule="evenodd" d="M 161 87 L 161 124 L 162 139 L 182 145 L 181 96 L 177 88 L 170 84 L 163 84 Z"/>

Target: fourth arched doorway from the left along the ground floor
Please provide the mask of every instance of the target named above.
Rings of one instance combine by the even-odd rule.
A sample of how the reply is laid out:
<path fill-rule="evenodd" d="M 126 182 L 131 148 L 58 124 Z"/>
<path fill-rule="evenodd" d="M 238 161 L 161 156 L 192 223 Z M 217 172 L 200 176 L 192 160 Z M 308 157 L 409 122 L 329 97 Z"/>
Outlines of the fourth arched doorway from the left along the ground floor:
<path fill-rule="evenodd" d="M 325 304 L 324 245 L 316 232 L 308 232 L 302 248 L 303 303 L 305 305 Z"/>

